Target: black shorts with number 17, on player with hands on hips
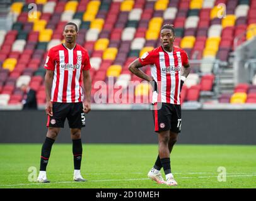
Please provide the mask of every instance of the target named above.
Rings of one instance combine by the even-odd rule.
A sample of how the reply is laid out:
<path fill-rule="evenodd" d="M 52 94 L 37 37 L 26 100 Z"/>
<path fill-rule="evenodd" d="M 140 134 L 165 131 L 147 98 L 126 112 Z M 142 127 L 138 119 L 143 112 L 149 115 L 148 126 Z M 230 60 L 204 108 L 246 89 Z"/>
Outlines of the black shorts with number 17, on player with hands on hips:
<path fill-rule="evenodd" d="M 182 111 L 180 105 L 161 103 L 160 109 L 154 104 L 154 131 L 172 131 L 180 133 L 182 129 Z"/>

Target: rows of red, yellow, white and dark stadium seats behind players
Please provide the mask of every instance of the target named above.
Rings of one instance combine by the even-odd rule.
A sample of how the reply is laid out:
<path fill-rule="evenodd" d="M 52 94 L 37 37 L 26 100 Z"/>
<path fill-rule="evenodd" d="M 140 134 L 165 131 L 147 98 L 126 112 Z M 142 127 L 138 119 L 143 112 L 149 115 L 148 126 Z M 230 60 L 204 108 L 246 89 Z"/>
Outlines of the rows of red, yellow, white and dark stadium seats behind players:
<path fill-rule="evenodd" d="M 36 18 L 28 14 L 30 3 L 37 4 Z M 226 4 L 225 18 L 218 16 L 224 14 L 218 7 L 220 3 Z M 134 98 L 149 95 L 149 84 L 131 75 L 128 65 L 160 45 L 160 29 L 165 23 L 174 24 L 175 45 L 186 50 L 190 59 L 206 61 L 192 63 L 182 102 L 202 101 L 201 92 L 214 92 L 218 76 L 214 61 L 230 62 L 236 36 L 247 31 L 240 45 L 256 35 L 256 2 L 249 0 L 16 0 L 11 4 L 11 13 L 16 16 L 12 29 L 0 30 L 0 104 L 4 106 L 21 102 L 21 84 L 37 90 L 38 104 L 45 103 L 47 50 L 62 42 L 62 28 L 68 21 L 78 24 L 77 42 L 90 55 L 92 99 L 97 91 L 95 83 L 108 82 L 109 77 L 117 87 L 113 95 L 127 91 L 129 81 L 138 81 Z M 149 67 L 143 71 L 150 73 Z M 256 77 L 253 80 L 236 86 L 234 94 L 223 93 L 217 99 L 255 102 Z"/>

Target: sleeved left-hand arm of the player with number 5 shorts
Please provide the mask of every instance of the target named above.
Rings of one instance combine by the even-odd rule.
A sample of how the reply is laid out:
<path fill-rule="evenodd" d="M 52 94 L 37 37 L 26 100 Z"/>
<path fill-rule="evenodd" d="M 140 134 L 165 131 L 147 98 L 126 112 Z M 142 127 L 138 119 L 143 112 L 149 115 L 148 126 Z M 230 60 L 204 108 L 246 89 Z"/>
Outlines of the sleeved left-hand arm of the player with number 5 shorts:
<path fill-rule="evenodd" d="M 54 51 L 52 49 L 49 50 L 49 53 L 46 58 L 45 66 L 46 74 L 45 74 L 45 95 L 46 95 L 46 106 L 45 112 L 46 114 L 52 116 L 52 102 L 50 101 L 51 93 L 52 93 L 52 82 L 54 80 Z"/>

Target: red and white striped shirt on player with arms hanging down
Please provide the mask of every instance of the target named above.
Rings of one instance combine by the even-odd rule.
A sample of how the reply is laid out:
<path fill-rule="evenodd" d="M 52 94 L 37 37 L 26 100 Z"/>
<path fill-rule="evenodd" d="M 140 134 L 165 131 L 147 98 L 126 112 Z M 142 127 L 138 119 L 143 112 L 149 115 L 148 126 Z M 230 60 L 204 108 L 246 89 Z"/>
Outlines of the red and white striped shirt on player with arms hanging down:
<path fill-rule="evenodd" d="M 90 70 L 87 50 L 76 44 L 69 50 L 64 44 L 50 48 L 45 69 L 54 71 L 52 82 L 52 102 L 81 102 L 82 73 Z"/>

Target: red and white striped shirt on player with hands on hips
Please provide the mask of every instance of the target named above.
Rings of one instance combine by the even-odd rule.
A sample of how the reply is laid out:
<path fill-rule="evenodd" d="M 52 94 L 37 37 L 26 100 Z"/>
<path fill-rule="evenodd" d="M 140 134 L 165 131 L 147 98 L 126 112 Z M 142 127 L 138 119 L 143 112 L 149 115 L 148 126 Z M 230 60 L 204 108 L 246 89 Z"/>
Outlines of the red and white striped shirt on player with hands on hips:
<path fill-rule="evenodd" d="M 173 52 L 166 52 L 159 46 L 144 53 L 139 62 L 142 65 L 151 65 L 151 75 L 158 82 L 157 102 L 179 105 L 180 73 L 182 66 L 189 63 L 187 53 L 177 46 L 173 46 Z"/>

